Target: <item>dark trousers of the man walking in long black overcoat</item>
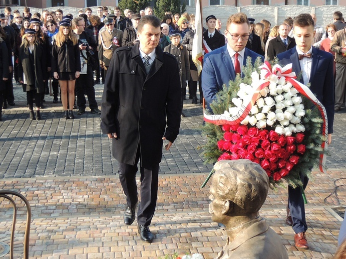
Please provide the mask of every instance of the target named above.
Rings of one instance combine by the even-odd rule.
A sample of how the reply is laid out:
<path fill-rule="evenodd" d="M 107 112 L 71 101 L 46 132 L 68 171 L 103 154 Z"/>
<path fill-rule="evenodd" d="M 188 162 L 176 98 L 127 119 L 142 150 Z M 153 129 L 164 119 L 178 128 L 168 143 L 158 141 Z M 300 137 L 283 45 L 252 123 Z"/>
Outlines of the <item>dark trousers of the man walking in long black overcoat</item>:
<path fill-rule="evenodd" d="M 127 206 L 130 208 L 133 208 L 138 201 L 136 173 L 139 157 L 140 149 L 138 148 L 135 165 L 119 162 L 119 179 L 126 195 Z M 147 167 L 140 166 L 140 173 L 140 205 L 137 212 L 137 223 L 138 225 L 149 226 L 156 208 L 159 164 Z"/>

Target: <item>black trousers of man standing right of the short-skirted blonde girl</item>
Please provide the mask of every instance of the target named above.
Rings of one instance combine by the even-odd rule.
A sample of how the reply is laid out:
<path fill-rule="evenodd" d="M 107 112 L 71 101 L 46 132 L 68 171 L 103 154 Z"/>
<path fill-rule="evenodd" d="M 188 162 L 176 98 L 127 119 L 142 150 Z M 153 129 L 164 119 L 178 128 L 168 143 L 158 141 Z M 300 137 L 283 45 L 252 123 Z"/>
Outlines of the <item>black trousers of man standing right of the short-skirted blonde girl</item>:
<path fill-rule="evenodd" d="M 77 106 L 79 109 L 85 109 L 86 107 L 86 95 L 89 101 L 90 109 L 97 108 L 97 102 L 95 99 L 95 88 L 94 88 L 94 76 L 92 68 L 87 66 L 86 74 L 80 74 L 76 79 L 75 92 L 77 96 Z"/>

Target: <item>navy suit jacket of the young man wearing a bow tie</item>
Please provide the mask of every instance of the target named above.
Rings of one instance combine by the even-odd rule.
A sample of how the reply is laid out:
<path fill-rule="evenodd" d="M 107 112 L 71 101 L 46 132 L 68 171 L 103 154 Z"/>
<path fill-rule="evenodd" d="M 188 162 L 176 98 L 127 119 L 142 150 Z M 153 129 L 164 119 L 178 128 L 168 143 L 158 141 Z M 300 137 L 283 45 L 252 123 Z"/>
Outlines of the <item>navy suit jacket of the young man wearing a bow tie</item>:
<path fill-rule="evenodd" d="M 292 63 L 293 72 L 298 75 L 302 69 L 299 63 L 297 49 L 293 48 L 278 55 L 280 64 Z M 334 72 L 333 55 L 313 47 L 313 63 L 309 83 L 310 90 L 324 105 L 328 117 L 328 133 L 333 133 L 334 122 Z M 301 78 L 303 83 L 303 78 Z"/>

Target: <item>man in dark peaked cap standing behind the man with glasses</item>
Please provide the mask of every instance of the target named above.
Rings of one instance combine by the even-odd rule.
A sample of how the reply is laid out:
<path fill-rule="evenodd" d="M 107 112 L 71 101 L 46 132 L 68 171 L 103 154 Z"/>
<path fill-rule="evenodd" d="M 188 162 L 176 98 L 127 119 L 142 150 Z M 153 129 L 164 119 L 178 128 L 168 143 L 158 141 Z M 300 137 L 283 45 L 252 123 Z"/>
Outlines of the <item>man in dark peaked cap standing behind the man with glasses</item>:
<path fill-rule="evenodd" d="M 225 37 L 218 30 L 215 29 L 216 17 L 214 15 L 209 15 L 206 19 L 206 25 L 208 29 L 203 33 L 204 45 L 209 48 L 209 52 L 225 46 Z"/>

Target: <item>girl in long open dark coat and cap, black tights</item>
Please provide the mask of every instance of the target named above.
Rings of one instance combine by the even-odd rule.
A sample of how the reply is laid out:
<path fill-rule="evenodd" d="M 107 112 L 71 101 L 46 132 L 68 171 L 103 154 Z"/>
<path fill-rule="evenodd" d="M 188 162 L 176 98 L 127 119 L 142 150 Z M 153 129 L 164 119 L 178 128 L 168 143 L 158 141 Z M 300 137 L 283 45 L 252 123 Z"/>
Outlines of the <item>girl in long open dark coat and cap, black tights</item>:
<path fill-rule="evenodd" d="M 18 78 L 26 92 L 30 120 L 40 120 L 40 94 L 44 93 L 46 78 L 46 54 L 36 38 L 34 29 L 26 29 L 19 48 Z M 33 113 L 33 99 L 36 105 L 36 118 Z"/>

